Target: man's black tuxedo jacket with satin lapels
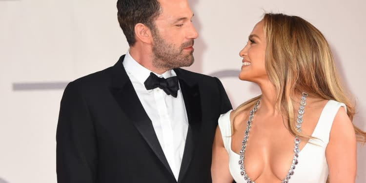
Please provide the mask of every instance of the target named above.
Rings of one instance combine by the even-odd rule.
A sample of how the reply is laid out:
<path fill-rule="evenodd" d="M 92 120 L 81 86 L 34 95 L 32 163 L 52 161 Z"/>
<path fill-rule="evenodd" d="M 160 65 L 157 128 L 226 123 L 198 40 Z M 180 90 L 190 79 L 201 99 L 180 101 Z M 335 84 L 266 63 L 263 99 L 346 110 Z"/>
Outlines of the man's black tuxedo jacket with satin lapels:
<path fill-rule="evenodd" d="M 177 183 L 123 59 L 67 85 L 56 135 L 58 183 Z M 232 107 L 217 78 L 174 71 L 189 123 L 178 183 L 210 183 L 217 120 Z"/>

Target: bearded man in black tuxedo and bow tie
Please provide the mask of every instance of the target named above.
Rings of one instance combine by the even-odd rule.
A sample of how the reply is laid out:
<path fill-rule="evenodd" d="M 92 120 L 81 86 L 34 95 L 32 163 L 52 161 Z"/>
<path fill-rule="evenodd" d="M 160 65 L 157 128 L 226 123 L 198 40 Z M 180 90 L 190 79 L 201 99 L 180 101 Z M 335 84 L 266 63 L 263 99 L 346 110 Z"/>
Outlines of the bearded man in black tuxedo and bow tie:
<path fill-rule="evenodd" d="M 193 63 L 187 0 L 118 0 L 130 45 L 112 67 L 70 82 L 57 127 L 58 183 L 210 183 L 217 78 Z"/>

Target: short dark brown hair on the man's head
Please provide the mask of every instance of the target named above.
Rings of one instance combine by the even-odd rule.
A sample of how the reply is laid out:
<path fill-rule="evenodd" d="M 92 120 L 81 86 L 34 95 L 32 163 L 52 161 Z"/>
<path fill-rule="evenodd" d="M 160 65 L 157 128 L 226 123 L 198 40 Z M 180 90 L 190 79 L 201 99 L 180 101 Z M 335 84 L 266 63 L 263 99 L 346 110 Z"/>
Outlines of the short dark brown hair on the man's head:
<path fill-rule="evenodd" d="M 130 46 L 136 42 L 135 25 L 137 23 L 146 25 L 153 34 L 155 33 L 154 20 L 161 12 L 158 0 L 118 0 L 117 9 L 118 22 Z"/>

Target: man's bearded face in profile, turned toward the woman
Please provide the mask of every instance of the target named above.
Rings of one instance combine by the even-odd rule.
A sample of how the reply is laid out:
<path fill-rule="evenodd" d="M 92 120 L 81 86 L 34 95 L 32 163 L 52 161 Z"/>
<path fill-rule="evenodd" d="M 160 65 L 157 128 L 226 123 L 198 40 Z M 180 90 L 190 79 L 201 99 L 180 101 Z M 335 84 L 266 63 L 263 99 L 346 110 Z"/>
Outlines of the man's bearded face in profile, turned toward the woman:
<path fill-rule="evenodd" d="M 193 61 L 193 43 L 198 37 L 191 20 L 192 10 L 187 0 L 159 0 L 162 13 L 153 30 L 153 66 L 173 69 L 190 66 Z"/>

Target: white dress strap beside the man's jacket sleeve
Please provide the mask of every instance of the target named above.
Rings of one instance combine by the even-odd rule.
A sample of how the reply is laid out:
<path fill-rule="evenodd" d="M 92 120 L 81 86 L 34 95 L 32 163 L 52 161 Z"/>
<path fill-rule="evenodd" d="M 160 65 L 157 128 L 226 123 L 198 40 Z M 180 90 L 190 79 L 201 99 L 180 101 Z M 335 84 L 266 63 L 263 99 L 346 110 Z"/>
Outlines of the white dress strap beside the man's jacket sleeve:
<path fill-rule="evenodd" d="M 224 147 L 227 153 L 230 153 L 231 149 L 231 122 L 230 122 L 231 111 L 232 110 L 229 110 L 227 111 L 227 113 L 222 114 L 218 120 L 221 137 L 223 138 Z"/>

